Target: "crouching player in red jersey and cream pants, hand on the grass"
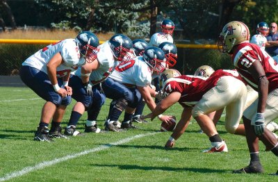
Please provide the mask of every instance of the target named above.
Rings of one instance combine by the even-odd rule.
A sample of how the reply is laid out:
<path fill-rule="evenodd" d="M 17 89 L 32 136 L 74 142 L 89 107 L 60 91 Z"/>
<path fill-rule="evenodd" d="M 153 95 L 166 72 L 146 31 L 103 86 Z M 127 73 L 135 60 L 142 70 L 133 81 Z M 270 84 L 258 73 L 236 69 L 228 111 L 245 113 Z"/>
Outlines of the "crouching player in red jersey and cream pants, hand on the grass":
<path fill-rule="evenodd" d="M 162 91 L 165 98 L 145 118 L 153 119 L 176 102 L 183 106 L 181 119 L 165 147 L 173 147 L 174 140 L 183 134 L 193 116 L 211 141 L 212 147 L 204 152 L 228 151 L 227 144 L 220 138 L 212 119 L 207 115 L 225 106 L 226 130 L 229 133 L 245 135 L 244 126 L 239 122 L 245 106 L 247 90 L 237 72 L 219 69 L 207 79 L 186 75 L 167 78 L 163 83 Z"/>

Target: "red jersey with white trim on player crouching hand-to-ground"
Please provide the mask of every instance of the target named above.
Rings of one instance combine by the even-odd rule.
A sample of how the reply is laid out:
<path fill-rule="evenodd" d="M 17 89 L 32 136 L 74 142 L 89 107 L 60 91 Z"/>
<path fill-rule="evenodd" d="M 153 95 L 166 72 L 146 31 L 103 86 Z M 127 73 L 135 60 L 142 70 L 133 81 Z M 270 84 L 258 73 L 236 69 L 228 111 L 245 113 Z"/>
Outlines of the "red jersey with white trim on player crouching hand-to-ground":
<path fill-rule="evenodd" d="M 185 108 L 193 107 L 200 99 L 202 99 L 203 95 L 208 90 L 215 87 L 219 78 L 222 76 L 233 76 L 242 80 L 236 70 L 218 69 L 207 79 L 200 76 L 190 75 L 170 78 L 165 81 L 162 90 L 165 97 L 172 92 L 180 92 L 181 98 L 179 99 L 179 104 Z"/>

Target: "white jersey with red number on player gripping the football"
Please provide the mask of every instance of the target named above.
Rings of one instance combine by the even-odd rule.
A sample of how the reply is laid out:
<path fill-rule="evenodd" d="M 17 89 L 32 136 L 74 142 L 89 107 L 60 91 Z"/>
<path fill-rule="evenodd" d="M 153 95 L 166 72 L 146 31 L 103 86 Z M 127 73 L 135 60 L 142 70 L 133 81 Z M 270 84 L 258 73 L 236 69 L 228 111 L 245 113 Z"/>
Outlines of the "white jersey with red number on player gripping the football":
<path fill-rule="evenodd" d="M 142 57 L 138 56 L 117 65 L 109 77 L 120 83 L 145 87 L 152 81 L 152 71 Z"/>

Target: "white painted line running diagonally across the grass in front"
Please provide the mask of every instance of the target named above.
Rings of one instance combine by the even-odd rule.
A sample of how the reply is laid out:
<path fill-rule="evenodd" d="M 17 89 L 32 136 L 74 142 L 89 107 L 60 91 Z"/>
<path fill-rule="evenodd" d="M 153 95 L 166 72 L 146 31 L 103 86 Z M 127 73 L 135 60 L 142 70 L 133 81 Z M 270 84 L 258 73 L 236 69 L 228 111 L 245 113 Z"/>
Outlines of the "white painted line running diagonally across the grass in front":
<path fill-rule="evenodd" d="M 149 136 L 149 135 L 156 135 L 157 133 L 160 133 L 160 132 L 134 135 L 133 137 L 124 138 L 123 140 L 119 140 L 117 142 L 113 142 L 113 143 L 110 143 L 110 144 L 103 144 L 99 147 L 89 149 L 89 150 L 85 150 L 85 151 L 81 151 L 80 153 L 77 153 L 77 154 L 67 155 L 67 156 L 62 157 L 62 158 L 55 158 L 54 160 L 44 161 L 44 162 L 38 163 L 37 165 L 34 165 L 34 166 L 24 167 L 20 171 L 12 172 L 10 174 L 6 174 L 6 176 L 3 176 L 3 177 L 0 178 L 0 181 L 7 181 L 9 179 L 13 179 L 13 178 L 16 178 L 18 176 L 23 176 L 24 174 L 28 174 L 29 172 L 33 172 L 35 170 L 42 169 L 44 167 L 49 167 L 51 165 L 61 163 L 65 160 L 69 160 L 69 159 L 72 159 L 72 158 L 77 158 L 79 156 L 90 154 L 90 153 L 95 152 L 95 151 L 101 151 L 101 150 L 104 150 L 104 149 L 109 149 L 109 148 L 114 147 L 116 145 L 124 144 L 126 142 L 129 142 L 133 139 L 142 138 L 142 137 Z"/>

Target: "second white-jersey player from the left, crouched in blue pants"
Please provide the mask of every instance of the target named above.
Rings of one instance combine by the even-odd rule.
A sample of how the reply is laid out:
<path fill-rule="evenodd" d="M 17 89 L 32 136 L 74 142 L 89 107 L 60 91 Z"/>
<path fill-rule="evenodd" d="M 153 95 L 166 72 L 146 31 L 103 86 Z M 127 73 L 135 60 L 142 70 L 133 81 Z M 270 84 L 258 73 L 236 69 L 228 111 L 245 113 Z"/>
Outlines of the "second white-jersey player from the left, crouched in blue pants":
<path fill-rule="evenodd" d="M 114 71 L 117 64 L 123 59 L 129 60 L 129 51 L 132 48 L 131 39 L 126 35 L 115 34 L 110 40 L 99 46 L 97 57 L 90 64 L 79 67 L 70 78 L 74 98 L 77 102 L 72 108 L 70 121 L 67 124 L 65 135 L 81 135 L 76 131 L 76 124 L 85 110 L 88 110 L 88 119 L 85 132 L 99 133 L 97 115 L 104 104 L 105 95 L 101 93 L 102 81 Z"/>

